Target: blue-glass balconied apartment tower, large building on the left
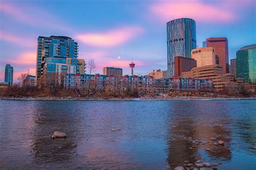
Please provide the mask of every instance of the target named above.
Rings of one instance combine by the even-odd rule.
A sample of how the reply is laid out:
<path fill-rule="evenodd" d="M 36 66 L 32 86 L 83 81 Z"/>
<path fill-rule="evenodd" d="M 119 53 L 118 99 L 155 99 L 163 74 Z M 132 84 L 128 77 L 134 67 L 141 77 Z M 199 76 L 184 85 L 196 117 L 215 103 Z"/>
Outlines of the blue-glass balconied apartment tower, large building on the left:
<path fill-rule="evenodd" d="M 81 73 L 85 63 L 78 57 L 78 44 L 65 36 L 38 37 L 36 81 L 44 73 Z"/>

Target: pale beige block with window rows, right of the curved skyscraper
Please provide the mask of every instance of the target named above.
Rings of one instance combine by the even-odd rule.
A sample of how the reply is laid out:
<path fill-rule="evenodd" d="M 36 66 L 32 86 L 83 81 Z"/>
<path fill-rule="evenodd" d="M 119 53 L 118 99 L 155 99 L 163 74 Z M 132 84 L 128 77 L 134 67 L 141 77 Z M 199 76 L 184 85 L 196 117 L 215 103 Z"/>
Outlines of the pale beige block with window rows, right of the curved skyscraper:
<path fill-rule="evenodd" d="M 197 67 L 215 65 L 215 52 L 213 47 L 192 49 L 191 58 L 197 61 Z"/>

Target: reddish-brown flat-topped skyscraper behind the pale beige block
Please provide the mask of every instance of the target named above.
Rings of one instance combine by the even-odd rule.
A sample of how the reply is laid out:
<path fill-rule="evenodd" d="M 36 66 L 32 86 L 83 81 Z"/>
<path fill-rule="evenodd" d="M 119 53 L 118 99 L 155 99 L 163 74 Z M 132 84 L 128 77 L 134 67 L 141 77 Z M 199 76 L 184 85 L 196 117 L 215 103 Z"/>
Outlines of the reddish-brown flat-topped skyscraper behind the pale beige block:
<path fill-rule="evenodd" d="M 228 43 L 227 38 L 207 38 L 206 39 L 207 47 L 214 47 L 215 51 L 215 61 L 223 67 L 223 74 L 229 72 L 228 65 Z"/>

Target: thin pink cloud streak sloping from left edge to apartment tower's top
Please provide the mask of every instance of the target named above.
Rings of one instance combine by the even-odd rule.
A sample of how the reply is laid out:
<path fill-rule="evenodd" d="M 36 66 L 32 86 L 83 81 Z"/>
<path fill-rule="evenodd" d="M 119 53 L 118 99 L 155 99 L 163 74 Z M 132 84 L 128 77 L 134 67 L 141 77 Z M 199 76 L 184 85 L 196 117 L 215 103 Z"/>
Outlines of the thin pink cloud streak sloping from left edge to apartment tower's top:
<path fill-rule="evenodd" d="M 15 36 L 8 32 L 0 31 L 0 40 L 9 41 L 17 45 L 25 46 L 25 47 L 35 47 L 36 48 L 36 41 L 30 40 L 22 37 Z M 26 43 L 24 43 L 24 40 Z"/>

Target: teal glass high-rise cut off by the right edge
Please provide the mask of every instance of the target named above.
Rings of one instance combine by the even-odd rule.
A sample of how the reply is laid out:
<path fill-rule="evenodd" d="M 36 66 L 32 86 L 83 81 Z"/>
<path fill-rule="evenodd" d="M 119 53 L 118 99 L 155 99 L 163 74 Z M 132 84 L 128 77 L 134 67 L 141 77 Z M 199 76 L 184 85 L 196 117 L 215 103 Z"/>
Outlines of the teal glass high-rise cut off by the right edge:
<path fill-rule="evenodd" d="M 244 78 L 245 82 L 256 82 L 256 44 L 237 51 L 237 77 Z"/>

